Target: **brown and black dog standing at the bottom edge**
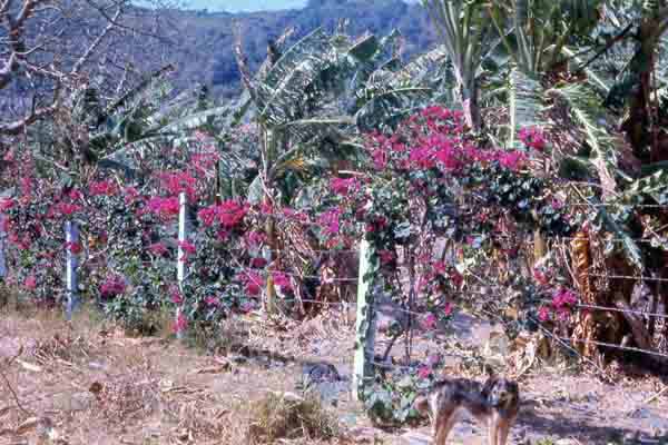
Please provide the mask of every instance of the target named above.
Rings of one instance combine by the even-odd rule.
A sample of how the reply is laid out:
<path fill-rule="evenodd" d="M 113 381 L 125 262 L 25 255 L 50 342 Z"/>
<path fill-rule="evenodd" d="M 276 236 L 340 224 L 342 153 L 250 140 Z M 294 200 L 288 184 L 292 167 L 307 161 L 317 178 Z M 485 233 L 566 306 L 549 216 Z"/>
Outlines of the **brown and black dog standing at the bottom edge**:
<path fill-rule="evenodd" d="M 419 396 L 414 406 L 430 416 L 434 445 L 445 445 L 460 408 L 487 424 L 489 445 L 505 445 L 518 417 L 520 389 L 515 382 L 495 376 L 484 384 L 465 378 L 442 379 L 429 394 Z"/>

